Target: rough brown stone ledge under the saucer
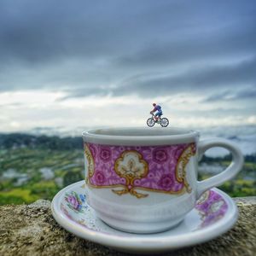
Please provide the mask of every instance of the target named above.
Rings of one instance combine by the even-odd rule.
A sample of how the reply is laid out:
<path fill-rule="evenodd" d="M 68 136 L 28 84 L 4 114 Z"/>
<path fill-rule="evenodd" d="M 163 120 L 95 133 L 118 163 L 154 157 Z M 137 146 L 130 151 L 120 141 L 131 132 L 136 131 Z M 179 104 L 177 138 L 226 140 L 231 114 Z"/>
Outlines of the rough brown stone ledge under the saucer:
<path fill-rule="evenodd" d="M 235 198 L 240 217 L 232 230 L 204 244 L 165 255 L 256 255 L 256 197 Z M 0 207 L 0 255 L 131 255 L 85 241 L 63 230 L 50 202 Z M 155 255 L 155 254 L 154 254 Z"/>

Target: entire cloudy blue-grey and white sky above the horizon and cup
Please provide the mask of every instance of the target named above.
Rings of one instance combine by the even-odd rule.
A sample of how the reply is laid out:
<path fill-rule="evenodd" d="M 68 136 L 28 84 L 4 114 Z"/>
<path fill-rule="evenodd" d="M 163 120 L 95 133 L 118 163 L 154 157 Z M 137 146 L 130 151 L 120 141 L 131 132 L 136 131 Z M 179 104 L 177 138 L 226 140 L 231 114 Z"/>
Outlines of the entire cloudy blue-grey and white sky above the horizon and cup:
<path fill-rule="evenodd" d="M 0 131 L 256 125 L 256 2 L 1 0 Z"/>

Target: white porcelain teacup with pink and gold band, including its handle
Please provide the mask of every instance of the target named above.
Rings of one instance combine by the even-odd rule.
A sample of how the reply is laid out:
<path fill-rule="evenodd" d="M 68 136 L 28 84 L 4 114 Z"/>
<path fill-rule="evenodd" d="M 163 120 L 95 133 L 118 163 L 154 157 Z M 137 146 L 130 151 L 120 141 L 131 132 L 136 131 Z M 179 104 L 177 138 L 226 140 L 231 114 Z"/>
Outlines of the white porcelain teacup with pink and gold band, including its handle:
<path fill-rule="evenodd" d="M 207 189 L 241 170 L 233 143 L 183 128 L 108 128 L 84 131 L 85 195 L 98 218 L 117 230 L 154 233 L 171 229 Z M 198 161 L 212 147 L 230 151 L 224 172 L 197 180 Z"/>

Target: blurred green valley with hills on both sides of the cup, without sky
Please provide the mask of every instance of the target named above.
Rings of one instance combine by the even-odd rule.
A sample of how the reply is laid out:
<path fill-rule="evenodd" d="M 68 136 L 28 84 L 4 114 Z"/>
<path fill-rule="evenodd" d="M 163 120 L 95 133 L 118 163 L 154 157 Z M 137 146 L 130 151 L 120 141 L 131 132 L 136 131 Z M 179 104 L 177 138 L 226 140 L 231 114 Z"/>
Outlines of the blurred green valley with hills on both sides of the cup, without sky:
<path fill-rule="evenodd" d="M 237 137 L 230 139 L 239 140 Z M 60 189 L 84 179 L 81 137 L 0 134 L 0 145 L 2 205 L 52 200 Z M 230 164 L 230 154 L 220 152 L 210 150 L 210 154 L 204 155 L 199 166 L 200 180 L 222 172 Z M 256 154 L 245 154 L 240 174 L 220 189 L 230 196 L 256 195 L 255 170 Z"/>

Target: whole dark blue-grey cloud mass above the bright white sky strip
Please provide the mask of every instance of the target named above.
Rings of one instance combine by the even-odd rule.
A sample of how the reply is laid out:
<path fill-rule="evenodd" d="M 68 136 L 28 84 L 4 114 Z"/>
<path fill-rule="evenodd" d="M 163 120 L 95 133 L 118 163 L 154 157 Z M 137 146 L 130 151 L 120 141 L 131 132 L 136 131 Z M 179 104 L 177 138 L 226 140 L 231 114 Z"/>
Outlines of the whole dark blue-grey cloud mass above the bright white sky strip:
<path fill-rule="evenodd" d="M 2 0 L 0 90 L 152 96 L 252 86 L 255 8 L 254 1 Z M 241 59 L 249 61 L 236 64 Z"/>

